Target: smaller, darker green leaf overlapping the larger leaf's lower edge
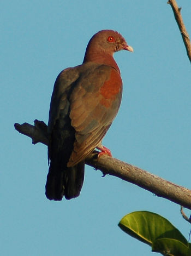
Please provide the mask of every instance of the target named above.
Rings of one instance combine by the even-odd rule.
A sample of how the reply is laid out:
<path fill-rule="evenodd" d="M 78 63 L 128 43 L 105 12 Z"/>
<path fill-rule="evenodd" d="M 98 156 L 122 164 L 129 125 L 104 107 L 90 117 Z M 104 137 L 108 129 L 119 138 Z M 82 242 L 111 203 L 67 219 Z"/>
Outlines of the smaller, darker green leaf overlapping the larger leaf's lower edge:
<path fill-rule="evenodd" d="M 186 244 L 170 238 L 156 240 L 152 245 L 152 252 L 160 252 L 163 255 L 189 256 L 189 248 Z"/>

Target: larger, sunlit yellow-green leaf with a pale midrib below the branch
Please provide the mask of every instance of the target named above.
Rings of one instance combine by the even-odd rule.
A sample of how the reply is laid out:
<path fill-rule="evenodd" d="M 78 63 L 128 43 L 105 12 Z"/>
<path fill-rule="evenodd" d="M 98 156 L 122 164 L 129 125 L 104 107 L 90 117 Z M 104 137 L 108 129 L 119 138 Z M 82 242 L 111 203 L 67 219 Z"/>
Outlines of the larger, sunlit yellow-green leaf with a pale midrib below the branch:
<path fill-rule="evenodd" d="M 130 236 L 150 246 L 159 238 L 172 238 L 188 246 L 181 232 L 169 220 L 156 213 L 147 211 L 129 213 L 122 218 L 118 226 Z"/>

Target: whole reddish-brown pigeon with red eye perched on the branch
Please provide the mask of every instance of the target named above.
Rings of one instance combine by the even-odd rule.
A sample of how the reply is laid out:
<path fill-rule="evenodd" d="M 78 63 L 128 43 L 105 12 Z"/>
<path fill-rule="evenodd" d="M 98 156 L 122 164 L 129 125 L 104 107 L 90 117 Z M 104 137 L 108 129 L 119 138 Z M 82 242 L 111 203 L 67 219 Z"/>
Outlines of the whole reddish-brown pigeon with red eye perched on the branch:
<path fill-rule="evenodd" d="M 47 126 L 49 200 L 80 195 L 85 158 L 94 149 L 111 156 L 102 140 L 121 104 L 122 78 L 113 56 L 120 50 L 133 52 L 120 33 L 101 30 L 88 42 L 82 64 L 56 78 Z"/>

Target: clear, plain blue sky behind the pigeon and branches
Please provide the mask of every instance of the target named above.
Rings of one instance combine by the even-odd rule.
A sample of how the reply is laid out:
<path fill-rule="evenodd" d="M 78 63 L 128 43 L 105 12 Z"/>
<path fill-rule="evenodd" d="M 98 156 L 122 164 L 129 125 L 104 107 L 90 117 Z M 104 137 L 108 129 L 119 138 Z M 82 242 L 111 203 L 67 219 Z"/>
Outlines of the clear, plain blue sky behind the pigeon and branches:
<path fill-rule="evenodd" d="M 35 118 L 47 123 L 58 73 L 81 64 L 94 33 L 117 30 L 134 53 L 115 54 L 123 99 L 104 145 L 114 157 L 190 188 L 190 62 L 166 2 L 2 1 L 1 255 L 154 255 L 117 226 L 141 210 L 163 215 L 188 238 L 177 204 L 88 166 L 80 197 L 47 200 L 47 148 L 14 129 Z M 191 34 L 191 2 L 178 4 Z"/>

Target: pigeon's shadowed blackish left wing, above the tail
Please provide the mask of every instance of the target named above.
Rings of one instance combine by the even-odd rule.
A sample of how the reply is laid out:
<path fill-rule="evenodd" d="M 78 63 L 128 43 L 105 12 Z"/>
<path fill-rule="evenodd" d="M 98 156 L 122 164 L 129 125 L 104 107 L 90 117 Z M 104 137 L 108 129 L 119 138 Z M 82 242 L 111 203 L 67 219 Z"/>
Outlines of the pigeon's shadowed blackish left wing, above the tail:
<path fill-rule="evenodd" d="M 63 161 L 62 165 L 65 166 L 73 151 L 75 140 L 75 130 L 71 127 L 69 118 L 70 102 L 68 98 L 78 78 L 78 66 L 65 69 L 59 73 L 50 103 L 47 128 L 49 134 L 48 157 L 50 161 L 53 161 L 59 155 Z"/>

